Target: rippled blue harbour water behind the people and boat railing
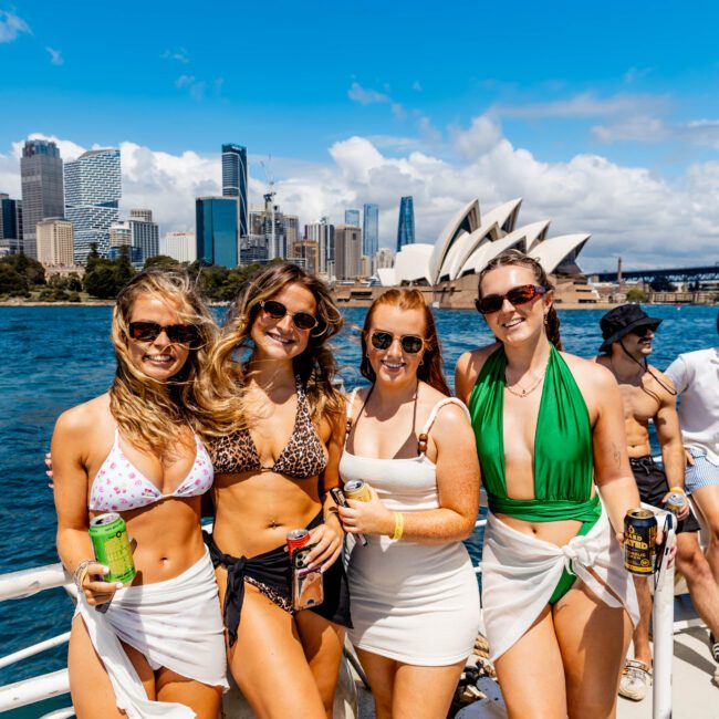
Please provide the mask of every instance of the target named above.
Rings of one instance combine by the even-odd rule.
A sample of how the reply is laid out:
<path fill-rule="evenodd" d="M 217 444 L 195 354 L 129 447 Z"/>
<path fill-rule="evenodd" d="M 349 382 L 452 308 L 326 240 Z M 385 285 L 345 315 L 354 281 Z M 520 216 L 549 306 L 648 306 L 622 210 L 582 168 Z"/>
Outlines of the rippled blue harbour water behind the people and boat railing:
<path fill-rule="evenodd" d="M 660 369 L 680 352 L 717 344 L 717 308 L 653 306 L 664 319 L 653 364 Z M 221 311 L 218 310 L 218 319 Z M 336 357 L 347 388 L 361 382 L 359 327 L 364 310 L 346 310 Z M 487 344 L 491 334 L 475 312 L 436 311 L 445 362 L 451 376 L 459 355 Z M 596 354 L 602 311 L 560 312 L 567 352 Z M 43 456 L 56 417 L 69 407 L 102 394 L 112 382 L 112 308 L 0 308 L 0 574 L 58 561 L 55 512 Z M 480 538 L 470 542 L 478 556 Z M 0 603 L 0 656 L 67 631 L 73 607 L 62 590 Z M 0 686 L 65 665 L 66 646 L 0 669 Z M 59 698 L 8 713 L 9 719 L 39 717 L 67 706 Z"/>

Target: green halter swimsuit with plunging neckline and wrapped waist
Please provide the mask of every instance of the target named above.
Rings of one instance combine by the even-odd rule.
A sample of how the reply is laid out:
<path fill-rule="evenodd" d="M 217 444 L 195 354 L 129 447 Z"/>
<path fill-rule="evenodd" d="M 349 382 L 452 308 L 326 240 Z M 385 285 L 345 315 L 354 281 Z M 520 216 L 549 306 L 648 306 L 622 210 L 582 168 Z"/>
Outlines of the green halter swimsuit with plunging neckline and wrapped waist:
<path fill-rule="evenodd" d="M 504 348 L 499 347 L 484 363 L 469 397 L 489 509 L 529 522 L 579 520 L 579 535 L 586 534 L 602 515 L 602 506 L 597 494 L 592 497 L 594 454 L 584 397 L 552 346 L 534 435 L 534 499 L 512 499 L 504 476 L 506 368 Z M 564 570 L 550 604 L 562 598 L 575 579 Z"/>

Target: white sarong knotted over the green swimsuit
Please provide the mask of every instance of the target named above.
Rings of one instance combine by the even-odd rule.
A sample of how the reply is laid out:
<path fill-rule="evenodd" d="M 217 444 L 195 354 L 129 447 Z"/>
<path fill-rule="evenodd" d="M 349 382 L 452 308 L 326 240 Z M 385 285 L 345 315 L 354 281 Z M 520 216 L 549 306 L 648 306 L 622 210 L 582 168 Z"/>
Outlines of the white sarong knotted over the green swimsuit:
<path fill-rule="evenodd" d="M 622 548 L 604 508 L 587 534 L 573 536 L 564 546 L 518 532 L 489 513 L 482 550 L 482 615 L 490 659 L 504 654 L 529 629 L 548 605 L 564 569 L 605 604 L 624 606 L 636 626 L 639 607 L 634 581 L 624 569 Z"/>

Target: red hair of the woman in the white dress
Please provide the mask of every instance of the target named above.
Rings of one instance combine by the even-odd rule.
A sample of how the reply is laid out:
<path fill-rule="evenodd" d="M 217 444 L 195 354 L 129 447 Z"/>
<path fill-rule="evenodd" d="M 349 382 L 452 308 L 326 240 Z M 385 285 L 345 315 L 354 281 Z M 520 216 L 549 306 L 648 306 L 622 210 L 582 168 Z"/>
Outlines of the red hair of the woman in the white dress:
<path fill-rule="evenodd" d="M 442 395 L 449 396 L 449 387 L 447 386 L 445 373 L 442 371 L 441 344 L 437 336 L 435 317 L 419 290 L 387 290 L 372 303 L 367 311 L 367 316 L 365 317 L 364 327 L 362 329 L 362 364 L 359 365 L 362 376 L 369 379 L 373 384 L 377 379 L 377 375 L 372 368 L 369 358 L 367 357 L 367 334 L 372 326 L 372 317 L 374 316 L 374 313 L 377 308 L 383 305 L 398 308 L 400 310 L 420 310 L 423 312 L 425 319 L 426 345 L 421 364 L 417 368 L 417 377 L 423 382 L 426 382 L 430 387 L 441 392 Z"/>

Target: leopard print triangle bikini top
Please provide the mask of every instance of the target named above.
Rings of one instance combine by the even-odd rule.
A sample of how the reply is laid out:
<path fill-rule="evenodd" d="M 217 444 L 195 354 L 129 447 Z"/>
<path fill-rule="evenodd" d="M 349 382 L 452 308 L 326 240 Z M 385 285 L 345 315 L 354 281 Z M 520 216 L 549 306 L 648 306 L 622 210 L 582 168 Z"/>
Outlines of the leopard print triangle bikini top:
<path fill-rule="evenodd" d="M 274 465 L 263 467 L 250 430 L 238 429 L 210 442 L 210 457 L 216 475 L 242 472 L 277 472 L 294 479 L 310 479 L 320 475 L 327 465 L 327 456 L 312 424 L 310 404 L 304 386 L 296 377 L 298 411 L 292 436 Z"/>

